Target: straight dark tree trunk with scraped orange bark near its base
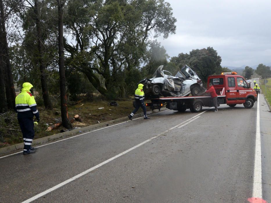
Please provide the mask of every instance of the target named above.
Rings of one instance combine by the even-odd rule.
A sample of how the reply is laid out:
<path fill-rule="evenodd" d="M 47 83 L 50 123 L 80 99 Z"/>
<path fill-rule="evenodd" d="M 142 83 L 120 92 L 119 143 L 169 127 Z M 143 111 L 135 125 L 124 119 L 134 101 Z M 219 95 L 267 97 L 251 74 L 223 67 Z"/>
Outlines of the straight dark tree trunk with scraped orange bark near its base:
<path fill-rule="evenodd" d="M 66 94 L 66 78 L 64 70 L 64 40 L 63 40 L 63 5 L 61 0 L 57 0 L 58 3 L 58 65 L 59 65 L 59 77 L 60 77 L 60 103 L 61 103 L 61 118 L 62 125 L 65 128 L 72 128 L 69 121 L 68 106 L 67 106 L 67 94 Z"/>

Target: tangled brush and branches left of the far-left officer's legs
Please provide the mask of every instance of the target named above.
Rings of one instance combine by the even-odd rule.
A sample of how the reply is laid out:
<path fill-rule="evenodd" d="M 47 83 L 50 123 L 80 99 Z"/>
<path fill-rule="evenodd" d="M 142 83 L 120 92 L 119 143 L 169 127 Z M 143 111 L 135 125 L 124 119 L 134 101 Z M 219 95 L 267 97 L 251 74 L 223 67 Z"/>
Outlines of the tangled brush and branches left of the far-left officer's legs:
<path fill-rule="evenodd" d="M 8 111 L 0 114 L 0 147 L 6 146 L 11 140 L 21 139 L 21 129 L 17 113 Z"/>

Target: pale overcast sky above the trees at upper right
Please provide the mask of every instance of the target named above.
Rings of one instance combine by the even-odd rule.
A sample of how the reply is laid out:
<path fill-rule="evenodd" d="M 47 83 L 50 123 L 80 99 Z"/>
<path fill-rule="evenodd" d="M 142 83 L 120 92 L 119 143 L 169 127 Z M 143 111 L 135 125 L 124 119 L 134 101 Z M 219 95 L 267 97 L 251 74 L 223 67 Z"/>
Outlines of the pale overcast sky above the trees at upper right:
<path fill-rule="evenodd" d="M 159 37 L 170 57 L 213 47 L 222 66 L 271 63 L 271 0 L 165 0 L 176 34 Z"/>

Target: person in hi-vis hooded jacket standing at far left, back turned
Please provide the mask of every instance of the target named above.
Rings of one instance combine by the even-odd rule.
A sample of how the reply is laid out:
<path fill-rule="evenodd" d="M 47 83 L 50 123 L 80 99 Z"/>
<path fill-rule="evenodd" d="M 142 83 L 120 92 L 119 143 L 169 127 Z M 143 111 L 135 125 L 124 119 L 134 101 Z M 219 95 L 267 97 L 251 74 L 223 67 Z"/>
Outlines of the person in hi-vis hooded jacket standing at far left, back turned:
<path fill-rule="evenodd" d="M 25 82 L 21 93 L 15 98 L 17 118 L 24 139 L 24 155 L 36 152 L 36 148 L 31 146 L 35 135 L 33 117 L 36 117 L 35 120 L 37 122 L 40 121 L 40 113 L 37 110 L 36 101 L 30 92 L 32 87 L 32 84 Z"/>

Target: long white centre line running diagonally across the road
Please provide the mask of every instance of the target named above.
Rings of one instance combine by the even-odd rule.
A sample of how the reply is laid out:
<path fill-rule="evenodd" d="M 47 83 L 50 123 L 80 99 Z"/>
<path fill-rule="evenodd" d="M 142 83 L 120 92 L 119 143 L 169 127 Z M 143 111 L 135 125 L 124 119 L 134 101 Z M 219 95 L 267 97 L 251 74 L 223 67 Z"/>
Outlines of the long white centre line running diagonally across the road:
<path fill-rule="evenodd" d="M 210 108 L 209 108 L 209 109 L 210 109 Z M 209 109 L 208 109 L 208 110 L 209 110 Z M 207 110 L 205 110 L 204 112 L 206 112 L 206 111 L 207 111 Z M 204 112 L 202 112 L 202 113 L 204 113 Z M 202 114 L 202 113 L 200 113 L 200 114 Z M 128 150 L 126 150 L 126 151 L 124 151 L 124 152 L 122 152 L 122 153 L 120 153 L 120 154 L 118 154 L 118 155 L 116 155 L 116 156 L 114 156 L 114 157 L 112 157 L 112 158 L 110 158 L 110 159 L 108 159 L 108 160 L 106 160 L 106 161 L 104 161 L 104 162 L 102 162 L 102 163 L 100 163 L 100 164 L 98 164 L 98 165 L 92 167 L 92 168 L 89 168 L 88 170 L 86 170 L 86 171 L 84 171 L 84 172 L 82 172 L 82 173 L 79 173 L 78 175 L 73 176 L 73 177 L 71 177 L 70 179 L 68 179 L 68 180 L 66 180 L 66 181 L 64 181 L 64 182 L 62 182 L 62 183 L 60 183 L 60 184 L 58 184 L 58 185 L 56 185 L 56 186 L 53 186 L 52 188 L 50 188 L 50 189 L 48 189 L 48 190 L 46 190 L 46 191 L 44 191 L 44 192 L 42 192 L 42 193 L 40 193 L 40 194 L 37 194 L 37 195 L 35 195 L 34 197 L 31 197 L 31 198 L 29 198 L 28 200 L 25 200 L 25 201 L 22 202 L 22 203 L 32 202 L 32 201 L 34 201 L 34 200 L 36 200 L 36 199 L 38 199 L 38 198 L 40 198 L 40 197 L 42 197 L 42 196 L 44 196 L 44 195 L 46 195 L 46 194 L 48 194 L 48 193 L 50 193 L 50 192 L 56 190 L 56 189 L 58 189 L 58 188 L 60 188 L 60 187 L 62 187 L 62 186 L 64 186 L 64 185 L 68 184 L 69 182 L 72 182 L 73 180 L 76 180 L 76 179 L 78 179 L 79 177 L 81 177 L 81 176 L 83 176 L 83 175 L 85 175 L 85 174 L 87 174 L 87 173 L 89 173 L 89 172 L 91 172 L 91 171 L 93 171 L 93 170 L 99 168 L 100 166 L 103 166 L 104 164 L 107 164 L 108 162 L 111 162 L 112 160 L 114 160 L 114 159 L 116 159 L 116 158 L 118 158 L 118 157 L 120 157 L 120 156 L 122 156 L 122 155 L 124 155 L 124 154 L 126 154 L 126 153 L 128 153 L 128 152 L 130 152 L 130 151 L 132 151 L 133 149 L 140 147 L 141 145 L 143 145 L 143 144 L 145 144 L 145 143 L 151 141 L 152 139 L 155 139 L 156 137 L 159 137 L 159 136 L 163 135 L 164 133 L 166 133 L 166 132 L 168 132 L 168 131 L 170 131 L 170 130 L 172 130 L 172 129 L 174 129 L 174 128 L 177 128 L 178 126 L 182 125 L 183 123 L 185 123 L 185 122 L 187 122 L 187 121 L 189 121 L 189 120 L 191 120 L 191 119 L 193 119 L 193 118 L 195 118 L 195 117 L 198 117 L 200 114 L 198 114 L 198 115 L 196 115 L 196 116 L 194 116 L 194 117 L 192 117 L 192 118 L 190 118 L 190 119 L 188 119 L 188 120 L 186 120 L 186 121 L 184 121 L 184 122 L 182 122 L 182 123 L 180 123 L 180 124 L 178 124 L 178 125 L 176 125 L 176 126 L 170 128 L 170 129 L 168 129 L 168 130 L 166 130 L 166 131 L 164 131 L 163 133 L 160 133 L 159 135 L 155 135 L 155 136 L 153 136 L 152 138 L 147 139 L 146 141 L 141 142 L 140 144 L 138 144 L 138 145 L 136 145 L 136 146 L 134 146 L 134 147 L 132 147 L 132 148 L 130 148 L 130 149 L 128 149 Z M 187 122 L 186 124 L 189 124 L 189 122 Z M 184 125 L 186 125 L 186 124 L 184 124 Z M 184 125 L 183 125 L 183 126 L 184 126 Z"/>

